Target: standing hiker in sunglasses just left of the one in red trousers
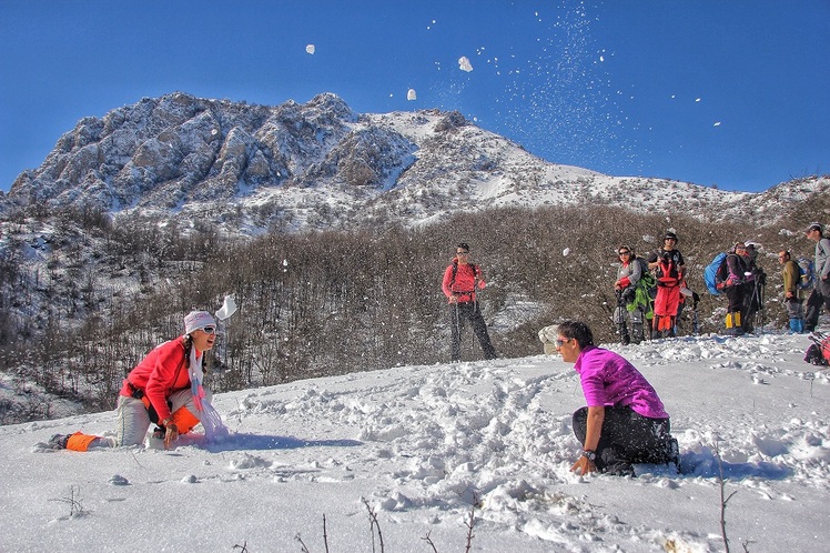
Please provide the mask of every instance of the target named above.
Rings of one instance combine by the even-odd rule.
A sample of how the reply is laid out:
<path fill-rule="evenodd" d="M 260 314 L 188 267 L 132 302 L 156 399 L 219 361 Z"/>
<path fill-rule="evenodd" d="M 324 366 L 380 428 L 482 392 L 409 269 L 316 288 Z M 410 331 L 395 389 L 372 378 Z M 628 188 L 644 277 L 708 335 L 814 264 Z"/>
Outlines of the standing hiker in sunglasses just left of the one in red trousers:
<path fill-rule="evenodd" d="M 617 324 L 617 333 L 621 343 L 640 343 L 645 340 L 644 320 L 646 313 L 650 312 L 651 303 L 648 291 L 644 290 L 640 283 L 644 278 L 648 278 L 650 274 L 648 274 L 648 268 L 644 268 L 640 260 L 637 259 L 634 248 L 620 245 L 617 248 L 617 255 L 619 257 L 619 268 L 617 269 L 617 280 L 614 282 L 614 291 L 617 295 L 614 322 Z M 630 333 L 626 319 L 631 324 Z"/>

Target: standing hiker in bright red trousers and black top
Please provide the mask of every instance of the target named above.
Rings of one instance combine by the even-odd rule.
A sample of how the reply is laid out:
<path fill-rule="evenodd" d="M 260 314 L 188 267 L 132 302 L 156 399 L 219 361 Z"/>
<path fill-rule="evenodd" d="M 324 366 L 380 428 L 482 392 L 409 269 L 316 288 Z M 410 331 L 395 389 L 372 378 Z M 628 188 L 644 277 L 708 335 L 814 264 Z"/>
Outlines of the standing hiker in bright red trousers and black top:
<path fill-rule="evenodd" d="M 657 278 L 654 331 L 662 338 L 675 335 L 675 321 L 680 305 L 680 282 L 686 271 L 682 254 L 675 248 L 677 234 L 668 231 L 662 237 L 662 248 L 648 258 L 648 268 Z"/>

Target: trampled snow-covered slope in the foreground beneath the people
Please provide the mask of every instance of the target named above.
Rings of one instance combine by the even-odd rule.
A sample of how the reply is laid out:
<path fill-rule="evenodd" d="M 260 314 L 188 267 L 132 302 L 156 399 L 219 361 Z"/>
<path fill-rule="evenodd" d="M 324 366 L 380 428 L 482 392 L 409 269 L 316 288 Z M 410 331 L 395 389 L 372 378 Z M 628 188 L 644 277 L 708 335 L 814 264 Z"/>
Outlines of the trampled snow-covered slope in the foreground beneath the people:
<path fill-rule="evenodd" d="M 464 551 L 470 514 L 473 551 L 723 551 L 716 444 L 732 551 L 820 551 L 830 380 L 802 361 L 809 343 L 610 346 L 664 400 L 682 474 L 570 473 L 584 400 L 573 365 L 545 355 L 221 394 L 231 435 L 171 451 L 34 448 L 54 433 L 111 433 L 114 412 L 2 426 L 0 551 L 321 552 L 324 535 L 332 552 L 382 551 L 379 537 L 388 552 Z"/>

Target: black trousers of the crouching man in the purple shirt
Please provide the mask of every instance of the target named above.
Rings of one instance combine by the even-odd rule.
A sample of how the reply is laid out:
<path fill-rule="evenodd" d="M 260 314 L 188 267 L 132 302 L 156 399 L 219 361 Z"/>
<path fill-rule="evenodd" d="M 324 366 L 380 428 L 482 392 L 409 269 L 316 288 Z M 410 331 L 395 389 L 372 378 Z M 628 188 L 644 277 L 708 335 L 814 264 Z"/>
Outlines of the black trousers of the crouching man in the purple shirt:
<path fill-rule="evenodd" d="M 574 413 L 574 435 L 585 443 L 588 408 Z M 628 472 L 632 463 L 665 464 L 671 458 L 668 419 L 649 419 L 631 408 L 606 406 L 595 464 L 599 472 Z"/>

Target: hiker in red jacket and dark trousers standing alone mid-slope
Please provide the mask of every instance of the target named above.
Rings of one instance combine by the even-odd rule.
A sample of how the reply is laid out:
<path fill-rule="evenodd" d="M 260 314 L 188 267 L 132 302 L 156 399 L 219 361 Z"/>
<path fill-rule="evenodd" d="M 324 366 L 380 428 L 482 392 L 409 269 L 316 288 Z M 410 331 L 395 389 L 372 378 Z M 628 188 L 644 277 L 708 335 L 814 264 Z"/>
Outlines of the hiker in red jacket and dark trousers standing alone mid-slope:
<path fill-rule="evenodd" d="M 482 309 L 476 296 L 477 290 L 485 288 L 482 268 L 469 261 L 469 245 L 459 243 L 455 249 L 453 262 L 444 271 L 442 290 L 449 301 L 449 328 L 452 333 L 451 359 L 462 359 L 462 330 L 468 321 L 473 333 L 478 339 L 484 359 L 495 359 L 496 350 L 490 343 L 487 324 L 482 316 Z"/>

